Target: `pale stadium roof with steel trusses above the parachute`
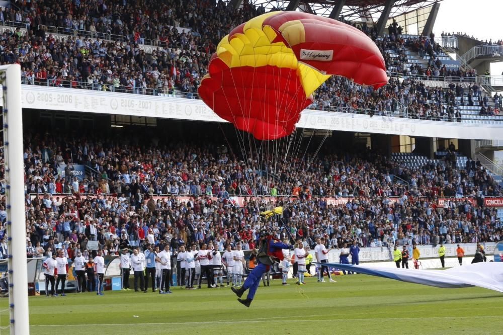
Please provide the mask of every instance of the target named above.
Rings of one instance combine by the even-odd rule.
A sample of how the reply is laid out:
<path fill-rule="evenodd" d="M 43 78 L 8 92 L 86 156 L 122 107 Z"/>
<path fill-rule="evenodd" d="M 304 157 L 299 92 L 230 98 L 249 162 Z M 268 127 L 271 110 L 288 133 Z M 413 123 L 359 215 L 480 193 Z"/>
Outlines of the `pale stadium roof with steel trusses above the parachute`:
<path fill-rule="evenodd" d="M 230 1 L 227 0 L 224 2 Z M 243 0 L 243 2 L 245 1 Z M 389 17 L 393 18 L 404 13 L 426 8 L 441 1 L 396 0 Z M 247 2 L 255 6 L 262 5 L 266 10 L 284 10 L 287 8 L 290 0 L 247 0 Z M 329 16 L 337 3 L 339 3 L 339 0 L 300 0 L 298 10 L 320 16 Z M 347 21 L 377 22 L 385 3 L 385 0 L 346 0 L 339 17 L 343 17 Z"/>

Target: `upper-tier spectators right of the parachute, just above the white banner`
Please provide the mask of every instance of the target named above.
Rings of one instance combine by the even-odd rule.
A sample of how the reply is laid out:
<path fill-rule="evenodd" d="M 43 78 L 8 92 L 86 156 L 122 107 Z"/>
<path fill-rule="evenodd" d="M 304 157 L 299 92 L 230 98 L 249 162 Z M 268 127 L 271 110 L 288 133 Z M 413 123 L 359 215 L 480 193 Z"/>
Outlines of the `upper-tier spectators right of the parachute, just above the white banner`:
<path fill-rule="evenodd" d="M 499 95 L 492 100 L 494 106 L 500 106 Z M 463 106 L 478 106 L 480 115 L 486 116 L 498 115 L 500 109 L 489 105 L 489 98 L 476 83 L 467 88 L 450 83 L 442 88 L 426 86 L 414 78 L 390 78 L 386 87 L 374 91 L 343 77 L 331 77 L 323 83 L 311 108 L 461 122 Z"/>

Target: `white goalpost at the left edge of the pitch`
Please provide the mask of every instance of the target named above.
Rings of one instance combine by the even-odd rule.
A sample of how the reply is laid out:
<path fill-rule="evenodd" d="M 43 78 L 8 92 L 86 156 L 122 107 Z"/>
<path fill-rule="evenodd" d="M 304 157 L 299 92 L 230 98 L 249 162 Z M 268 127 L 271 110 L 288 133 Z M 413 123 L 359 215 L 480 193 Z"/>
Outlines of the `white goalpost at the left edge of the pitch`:
<path fill-rule="evenodd" d="M 0 66 L 0 84 L 3 89 L 9 327 L 11 334 L 29 334 L 21 66 Z"/>

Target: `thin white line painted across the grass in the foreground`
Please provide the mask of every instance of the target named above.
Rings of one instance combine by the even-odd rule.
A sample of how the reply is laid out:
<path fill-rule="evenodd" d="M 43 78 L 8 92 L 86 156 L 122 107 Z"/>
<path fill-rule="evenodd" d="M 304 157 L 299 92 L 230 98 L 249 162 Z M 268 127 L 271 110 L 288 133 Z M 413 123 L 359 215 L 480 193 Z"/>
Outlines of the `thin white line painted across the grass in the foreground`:
<path fill-rule="evenodd" d="M 305 317 L 309 317 L 309 315 L 304 315 Z M 320 315 L 315 315 L 320 316 Z M 291 316 L 293 317 L 293 316 Z M 297 317 L 297 316 L 295 316 Z M 500 318 L 499 315 L 484 315 L 477 316 L 478 318 Z M 282 318 L 283 320 L 270 320 Z M 270 320 L 269 322 L 285 322 L 284 319 L 288 317 L 274 317 L 274 318 L 262 318 L 262 319 L 248 319 L 248 320 L 229 320 L 229 321 L 198 321 L 198 322 L 153 322 L 153 323 L 84 323 L 84 324 L 36 324 L 30 325 L 30 327 L 64 327 L 64 326 L 124 326 L 124 325 L 166 325 L 166 324 L 211 324 L 211 323 L 259 323 L 263 320 Z M 473 318 L 473 316 L 433 316 L 433 317 L 422 317 L 422 319 L 467 319 Z M 309 321 L 322 322 L 322 321 L 338 321 L 338 322 L 353 322 L 353 321 L 374 321 L 374 320 L 382 320 L 383 318 L 357 318 L 357 319 L 318 319 Z M 417 320 L 416 317 L 389 317 L 385 318 L 386 320 Z M 288 320 L 288 322 L 305 322 L 305 320 Z"/>

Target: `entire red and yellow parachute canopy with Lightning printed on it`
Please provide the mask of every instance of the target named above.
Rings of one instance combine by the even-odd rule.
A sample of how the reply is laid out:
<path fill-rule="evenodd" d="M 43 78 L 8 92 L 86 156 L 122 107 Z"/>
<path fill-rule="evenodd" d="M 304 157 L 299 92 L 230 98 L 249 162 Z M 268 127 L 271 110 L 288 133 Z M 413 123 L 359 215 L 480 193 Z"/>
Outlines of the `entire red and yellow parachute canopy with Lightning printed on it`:
<path fill-rule="evenodd" d="M 237 129 L 274 140 L 295 130 L 331 75 L 374 88 L 387 83 L 379 49 L 360 30 L 308 13 L 271 12 L 220 41 L 198 92 Z"/>

